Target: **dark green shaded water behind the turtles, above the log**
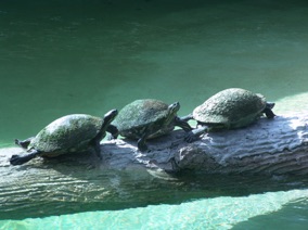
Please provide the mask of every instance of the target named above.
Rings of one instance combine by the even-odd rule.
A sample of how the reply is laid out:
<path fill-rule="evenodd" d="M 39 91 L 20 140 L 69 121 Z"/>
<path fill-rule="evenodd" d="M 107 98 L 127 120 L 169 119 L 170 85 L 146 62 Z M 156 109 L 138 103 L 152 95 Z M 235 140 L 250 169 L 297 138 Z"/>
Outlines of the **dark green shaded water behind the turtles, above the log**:
<path fill-rule="evenodd" d="M 10 2 L 0 4 L 3 143 L 136 99 L 179 101 L 187 115 L 229 87 L 269 101 L 307 90 L 303 2 Z"/>

